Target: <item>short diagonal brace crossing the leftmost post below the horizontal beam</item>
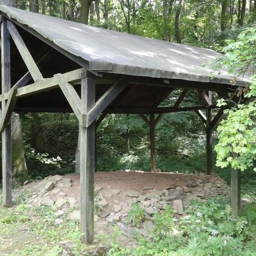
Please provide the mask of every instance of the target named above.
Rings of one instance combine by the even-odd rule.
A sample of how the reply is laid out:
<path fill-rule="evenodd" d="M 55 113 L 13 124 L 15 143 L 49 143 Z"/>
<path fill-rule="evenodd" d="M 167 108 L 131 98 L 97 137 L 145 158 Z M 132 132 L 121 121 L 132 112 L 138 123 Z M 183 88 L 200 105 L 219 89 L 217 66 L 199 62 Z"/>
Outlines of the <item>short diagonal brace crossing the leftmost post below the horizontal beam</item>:
<path fill-rule="evenodd" d="M 1 132 L 4 131 L 5 127 L 9 125 L 9 122 L 11 120 L 12 112 L 16 103 L 16 95 L 17 89 L 12 88 L 9 91 L 10 97 L 7 100 L 7 103 L 5 105 L 5 111 L 2 113 L 2 123 L 1 123 Z"/>

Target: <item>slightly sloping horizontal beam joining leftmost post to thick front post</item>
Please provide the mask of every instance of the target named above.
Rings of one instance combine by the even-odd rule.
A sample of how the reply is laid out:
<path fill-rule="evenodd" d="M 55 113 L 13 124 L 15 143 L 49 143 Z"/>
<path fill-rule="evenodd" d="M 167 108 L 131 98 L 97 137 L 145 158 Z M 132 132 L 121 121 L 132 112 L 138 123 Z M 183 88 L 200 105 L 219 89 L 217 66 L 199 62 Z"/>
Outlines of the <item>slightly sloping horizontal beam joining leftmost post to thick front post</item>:
<path fill-rule="evenodd" d="M 81 68 L 77 70 L 73 70 L 67 73 L 62 74 L 63 79 L 66 82 L 75 82 L 79 79 L 81 79 L 81 73 L 85 72 L 86 69 Z M 49 91 L 55 88 L 58 88 L 59 84 L 55 77 L 46 78 L 42 80 L 37 80 L 32 84 L 28 84 L 27 86 L 24 86 L 22 88 L 18 88 L 16 97 L 17 98 L 23 98 L 27 97 L 29 95 Z M 0 101 L 3 99 L 8 99 L 9 95 L 7 93 L 0 95 Z"/>

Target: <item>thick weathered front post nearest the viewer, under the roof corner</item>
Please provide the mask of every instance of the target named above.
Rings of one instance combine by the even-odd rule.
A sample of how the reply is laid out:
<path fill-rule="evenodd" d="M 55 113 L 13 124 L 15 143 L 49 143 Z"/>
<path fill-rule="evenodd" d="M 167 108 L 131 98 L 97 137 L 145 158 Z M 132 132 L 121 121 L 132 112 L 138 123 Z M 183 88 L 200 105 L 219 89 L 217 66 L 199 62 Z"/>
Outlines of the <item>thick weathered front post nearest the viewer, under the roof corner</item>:
<path fill-rule="evenodd" d="M 83 113 L 95 105 L 95 81 L 82 74 L 81 103 Z M 95 121 L 89 127 L 80 123 L 80 231 L 81 242 L 93 242 L 94 235 L 94 170 L 95 170 Z"/>

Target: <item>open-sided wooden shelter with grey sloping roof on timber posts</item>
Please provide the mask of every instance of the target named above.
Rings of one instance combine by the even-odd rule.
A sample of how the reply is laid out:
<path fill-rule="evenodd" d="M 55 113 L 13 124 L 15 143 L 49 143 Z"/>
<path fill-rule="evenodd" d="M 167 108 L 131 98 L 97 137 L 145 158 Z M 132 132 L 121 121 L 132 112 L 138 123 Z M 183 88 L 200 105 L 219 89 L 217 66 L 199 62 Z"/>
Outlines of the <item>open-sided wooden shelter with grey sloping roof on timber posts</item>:
<path fill-rule="evenodd" d="M 108 113 L 138 114 L 150 127 L 152 171 L 155 127 L 164 113 L 195 111 L 206 125 L 207 174 L 212 170 L 212 92 L 229 99 L 227 74 L 210 79 L 203 63 L 220 54 L 197 47 L 86 26 L 0 6 L 2 56 L 3 202 L 11 206 L 11 127 L 15 112 L 74 112 L 80 128 L 80 229 L 93 241 L 95 129 Z M 182 89 L 173 106 L 159 104 Z M 189 90 L 201 105 L 180 107 Z M 227 101 L 227 107 L 232 101 Z M 206 111 L 206 115 L 203 114 Z M 149 115 L 149 119 L 147 118 Z M 239 210 L 239 172 L 232 172 L 232 206 Z"/>

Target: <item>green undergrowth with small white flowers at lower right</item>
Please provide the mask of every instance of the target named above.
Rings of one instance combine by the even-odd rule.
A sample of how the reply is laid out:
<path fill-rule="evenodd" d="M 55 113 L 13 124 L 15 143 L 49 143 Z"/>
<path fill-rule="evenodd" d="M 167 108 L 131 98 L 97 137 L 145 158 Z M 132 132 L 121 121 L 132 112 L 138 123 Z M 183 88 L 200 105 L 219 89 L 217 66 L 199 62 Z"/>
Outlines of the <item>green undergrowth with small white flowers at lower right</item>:
<path fill-rule="evenodd" d="M 254 204 L 247 205 L 241 217 L 235 219 L 221 197 L 203 203 L 195 200 L 186 215 L 177 220 L 167 206 L 154 215 L 154 231 L 147 239 L 138 240 L 131 255 L 253 255 L 255 209 Z M 111 248 L 116 254 L 110 255 L 118 255 L 117 244 Z"/>

